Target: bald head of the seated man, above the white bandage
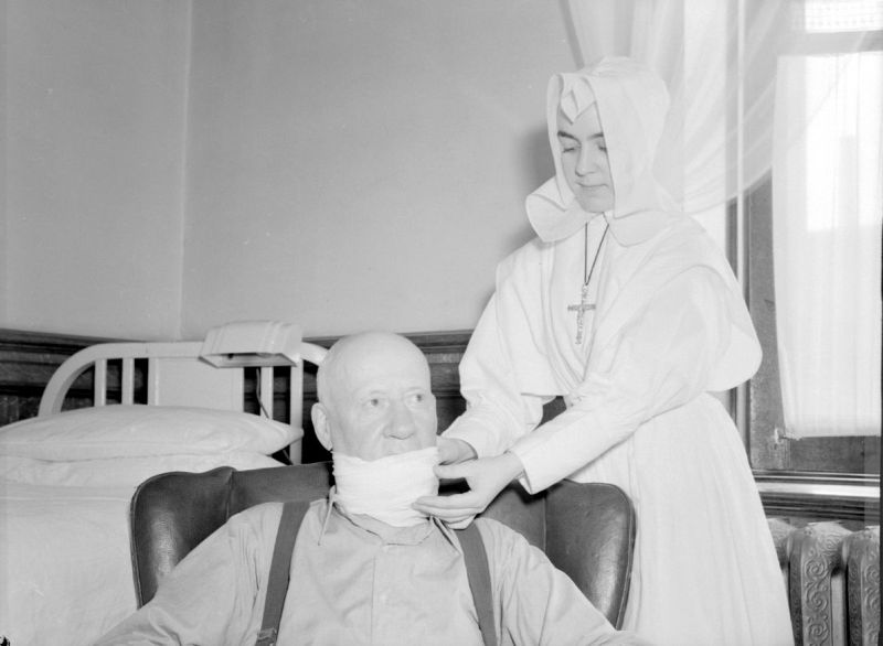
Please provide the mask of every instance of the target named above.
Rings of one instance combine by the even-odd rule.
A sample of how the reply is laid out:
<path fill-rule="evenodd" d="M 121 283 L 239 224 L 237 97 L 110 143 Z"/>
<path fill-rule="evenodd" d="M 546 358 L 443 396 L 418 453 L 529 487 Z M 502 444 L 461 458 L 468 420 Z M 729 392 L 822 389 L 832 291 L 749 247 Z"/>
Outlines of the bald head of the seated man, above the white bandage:
<path fill-rule="evenodd" d="M 376 460 L 435 444 L 429 366 L 404 336 L 366 332 L 338 341 L 319 367 L 317 389 L 312 421 L 329 450 Z"/>

